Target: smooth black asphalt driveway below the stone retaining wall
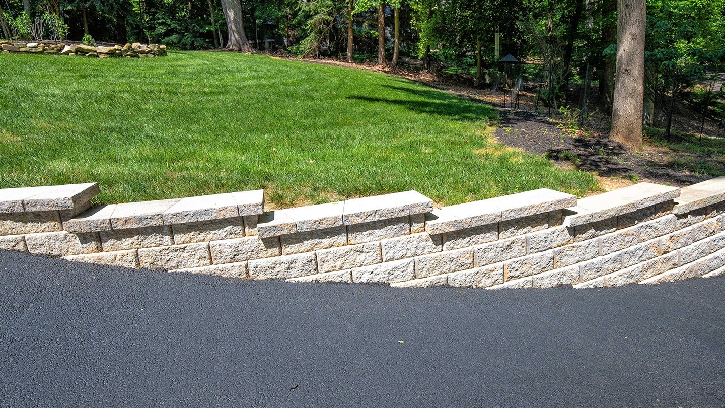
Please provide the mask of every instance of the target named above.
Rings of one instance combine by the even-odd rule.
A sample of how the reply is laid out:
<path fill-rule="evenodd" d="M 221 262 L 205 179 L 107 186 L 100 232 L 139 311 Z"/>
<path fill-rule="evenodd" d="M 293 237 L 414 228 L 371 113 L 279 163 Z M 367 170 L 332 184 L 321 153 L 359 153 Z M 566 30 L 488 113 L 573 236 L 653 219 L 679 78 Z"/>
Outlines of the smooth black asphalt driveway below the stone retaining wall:
<path fill-rule="evenodd" d="M 253 282 L 0 251 L 3 407 L 723 407 L 725 279 Z"/>

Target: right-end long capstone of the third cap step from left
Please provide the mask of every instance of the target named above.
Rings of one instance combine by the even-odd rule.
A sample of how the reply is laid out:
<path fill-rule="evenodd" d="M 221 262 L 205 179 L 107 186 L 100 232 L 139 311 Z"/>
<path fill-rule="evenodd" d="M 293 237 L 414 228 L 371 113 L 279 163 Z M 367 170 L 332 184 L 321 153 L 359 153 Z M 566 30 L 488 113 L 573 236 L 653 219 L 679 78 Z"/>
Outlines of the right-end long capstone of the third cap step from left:
<path fill-rule="evenodd" d="M 345 225 L 350 225 L 428 211 L 433 211 L 433 200 L 411 190 L 346 200 L 342 218 Z"/>

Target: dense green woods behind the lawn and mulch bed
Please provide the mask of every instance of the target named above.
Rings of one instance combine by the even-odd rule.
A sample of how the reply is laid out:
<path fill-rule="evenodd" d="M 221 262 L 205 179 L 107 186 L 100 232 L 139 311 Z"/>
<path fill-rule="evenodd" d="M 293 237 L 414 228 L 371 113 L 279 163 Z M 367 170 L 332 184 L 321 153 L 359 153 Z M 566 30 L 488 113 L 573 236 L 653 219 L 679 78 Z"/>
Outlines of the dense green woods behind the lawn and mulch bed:
<path fill-rule="evenodd" d="M 618 7 L 617 0 L 0 0 L 0 34 L 405 63 L 494 89 L 512 86 L 510 78 L 520 76 L 545 83 L 539 98 L 554 109 L 567 102 L 568 84 L 590 73 L 609 114 L 616 76 L 636 68 L 644 81 L 639 92 L 644 108 L 630 108 L 642 110 L 646 124 L 655 113 L 671 118 L 678 94 L 725 70 L 725 0 L 650 0 L 646 20 L 622 19 L 620 11 L 618 28 L 618 8 L 632 2 L 620 0 Z M 637 30 L 645 35 L 631 38 L 631 30 L 622 27 L 626 21 L 639 21 Z M 618 38 L 618 32 L 629 37 Z M 623 44 L 635 50 L 629 60 L 625 50 L 617 51 Z M 526 64 L 500 62 L 508 55 Z M 623 64 L 643 65 L 622 71 L 620 57 Z"/>

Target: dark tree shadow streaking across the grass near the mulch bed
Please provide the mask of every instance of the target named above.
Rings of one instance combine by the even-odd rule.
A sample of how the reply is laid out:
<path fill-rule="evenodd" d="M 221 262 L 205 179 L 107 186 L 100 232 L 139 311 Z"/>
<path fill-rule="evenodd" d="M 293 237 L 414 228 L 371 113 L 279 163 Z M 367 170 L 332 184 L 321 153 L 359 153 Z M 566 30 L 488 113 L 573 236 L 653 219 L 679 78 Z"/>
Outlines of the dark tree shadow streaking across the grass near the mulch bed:
<path fill-rule="evenodd" d="M 394 91 L 413 95 L 414 99 L 387 99 L 380 97 L 349 96 L 347 99 L 365 102 L 382 102 L 406 107 L 415 113 L 444 116 L 452 121 L 477 122 L 495 118 L 497 112 L 491 105 L 466 100 L 433 89 L 410 89 L 402 86 L 382 86 Z"/>

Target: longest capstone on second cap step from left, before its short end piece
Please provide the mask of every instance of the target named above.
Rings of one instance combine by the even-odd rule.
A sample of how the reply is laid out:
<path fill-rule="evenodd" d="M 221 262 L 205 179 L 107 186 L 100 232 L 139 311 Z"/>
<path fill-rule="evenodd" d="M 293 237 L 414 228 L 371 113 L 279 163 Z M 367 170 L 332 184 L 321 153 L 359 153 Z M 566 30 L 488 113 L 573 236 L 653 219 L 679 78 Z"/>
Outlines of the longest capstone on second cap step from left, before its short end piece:
<path fill-rule="evenodd" d="M 185 224 L 239 217 L 236 200 L 231 193 L 185 197 L 162 214 L 164 224 Z"/>

